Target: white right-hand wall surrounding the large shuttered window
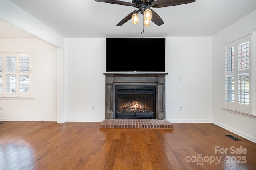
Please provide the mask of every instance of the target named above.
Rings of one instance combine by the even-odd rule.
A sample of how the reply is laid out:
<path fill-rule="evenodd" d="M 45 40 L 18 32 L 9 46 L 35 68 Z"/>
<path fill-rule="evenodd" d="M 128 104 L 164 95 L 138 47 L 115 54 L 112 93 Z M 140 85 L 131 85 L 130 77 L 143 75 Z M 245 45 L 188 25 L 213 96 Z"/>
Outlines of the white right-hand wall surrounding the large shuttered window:
<path fill-rule="evenodd" d="M 237 115 L 222 109 L 224 99 L 223 45 L 241 38 L 253 30 L 256 30 L 256 11 L 222 30 L 212 38 L 212 119 L 216 125 L 256 142 L 256 118 Z"/>

